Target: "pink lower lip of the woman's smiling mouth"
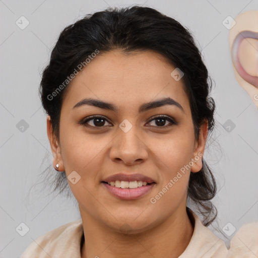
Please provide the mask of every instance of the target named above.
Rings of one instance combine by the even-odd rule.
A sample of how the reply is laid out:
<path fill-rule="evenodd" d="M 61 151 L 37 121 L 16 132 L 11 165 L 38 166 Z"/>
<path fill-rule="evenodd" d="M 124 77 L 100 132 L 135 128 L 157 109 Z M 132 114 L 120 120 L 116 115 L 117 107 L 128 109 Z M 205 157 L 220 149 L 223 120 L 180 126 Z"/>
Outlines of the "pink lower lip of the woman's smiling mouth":
<path fill-rule="evenodd" d="M 108 183 L 104 183 L 104 182 L 101 182 L 101 184 L 103 184 L 109 190 L 109 192 L 115 197 L 118 197 L 123 200 L 134 200 L 134 199 L 138 199 L 138 198 L 141 198 L 141 197 L 147 195 L 147 193 L 151 191 L 152 187 L 156 183 L 153 182 L 153 183 L 143 185 L 141 187 L 137 187 L 137 188 L 133 188 L 133 189 L 118 188 L 118 187 L 111 186 Z"/>

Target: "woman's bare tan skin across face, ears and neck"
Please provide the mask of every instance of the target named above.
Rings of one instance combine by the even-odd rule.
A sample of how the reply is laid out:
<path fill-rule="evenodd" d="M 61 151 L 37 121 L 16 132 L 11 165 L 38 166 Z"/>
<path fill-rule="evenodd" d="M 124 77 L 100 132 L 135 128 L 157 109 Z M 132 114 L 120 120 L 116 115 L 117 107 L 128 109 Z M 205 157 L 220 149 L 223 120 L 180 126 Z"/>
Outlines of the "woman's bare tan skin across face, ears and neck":
<path fill-rule="evenodd" d="M 199 140 L 195 139 L 183 80 L 175 81 L 170 76 L 174 69 L 152 51 L 125 55 L 112 50 L 99 54 L 75 77 L 63 99 L 60 141 L 47 117 L 53 166 L 58 163 L 58 170 L 65 170 L 67 176 L 72 171 L 81 176 L 76 184 L 68 182 L 83 221 L 86 242 L 82 257 L 178 257 L 190 241 L 193 226 L 186 213 L 188 179 L 190 171 L 200 171 L 202 158 L 160 200 L 150 202 L 181 167 L 198 153 L 204 154 L 208 133 L 206 121 Z M 86 97 L 112 103 L 118 111 L 90 105 L 73 109 Z M 165 105 L 138 112 L 143 103 L 163 97 L 180 103 L 183 111 Z M 94 120 L 88 121 L 88 127 L 78 123 L 91 115 L 107 120 L 102 127 Z M 178 124 L 165 120 L 162 126 L 170 126 L 162 129 L 157 120 L 152 120 L 159 115 L 168 115 Z M 133 126 L 127 133 L 119 128 L 124 119 Z M 139 199 L 122 200 L 100 183 L 119 172 L 142 173 L 156 184 Z M 130 231 L 121 230 L 126 225 Z"/>

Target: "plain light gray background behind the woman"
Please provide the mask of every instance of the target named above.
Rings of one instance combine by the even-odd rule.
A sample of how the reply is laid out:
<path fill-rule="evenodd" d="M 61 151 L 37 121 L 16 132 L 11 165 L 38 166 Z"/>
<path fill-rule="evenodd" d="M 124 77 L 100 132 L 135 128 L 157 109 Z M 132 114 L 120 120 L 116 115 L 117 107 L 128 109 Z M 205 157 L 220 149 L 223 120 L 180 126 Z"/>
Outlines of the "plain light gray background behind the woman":
<path fill-rule="evenodd" d="M 219 188 L 214 200 L 218 219 L 213 226 L 222 230 L 230 222 L 239 229 L 242 224 L 258 219 L 258 111 L 235 79 L 229 30 L 222 24 L 229 15 L 234 18 L 241 12 L 258 10 L 257 0 L 3 0 L 0 1 L 0 257 L 19 257 L 33 239 L 80 219 L 73 200 L 55 194 L 48 196 L 49 189 L 37 184 L 39 174 L 52 162 L 46 116 L 38 96 L 40 73 L 64 27 L 108 6 L 132 4 L 155 8 L 189 28 L 216 83 L 212 96 L 217 104 L 217 125 L 205 153 Z M 30 22 L 24 30 L 16 25 L 21 16 Z M 16 126 L 22 119 L 29 125 L 24 132 Z M 228 119 L 236 125 L 231 132 L 223 127 Z M 16 231 L 22 222 L 30 229 L 25 236 Z M 229 237 L 223 230 L 222 234 L 210 228 L 227 244 L 234 235 Z"/>

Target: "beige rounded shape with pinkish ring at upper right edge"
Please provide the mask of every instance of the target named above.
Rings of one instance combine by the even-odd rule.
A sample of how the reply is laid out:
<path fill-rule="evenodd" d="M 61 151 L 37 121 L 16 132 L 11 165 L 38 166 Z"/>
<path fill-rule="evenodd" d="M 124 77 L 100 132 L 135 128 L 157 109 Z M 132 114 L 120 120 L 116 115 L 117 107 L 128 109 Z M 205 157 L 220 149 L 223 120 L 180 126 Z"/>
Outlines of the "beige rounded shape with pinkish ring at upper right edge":
<path fill-rule="evenodd" d="M 234 20 L 229 32 L 234 73 L 258 108 L 258 11 L 241 13 Z"/>

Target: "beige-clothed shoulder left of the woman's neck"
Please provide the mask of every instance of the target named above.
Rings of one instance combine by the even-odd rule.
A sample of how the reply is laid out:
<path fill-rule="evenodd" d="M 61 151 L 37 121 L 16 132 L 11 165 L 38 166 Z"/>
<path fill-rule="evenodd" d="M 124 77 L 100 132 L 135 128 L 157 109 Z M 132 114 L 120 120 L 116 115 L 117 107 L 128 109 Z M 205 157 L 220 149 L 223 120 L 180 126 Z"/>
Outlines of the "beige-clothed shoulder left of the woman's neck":
<path fill-rule="evenodd" d="M 55 228 L 33 240 L 21 258 L 81 257 L 82 219 Z M 69 249 L 68 249 L 69 247 Z"/>

